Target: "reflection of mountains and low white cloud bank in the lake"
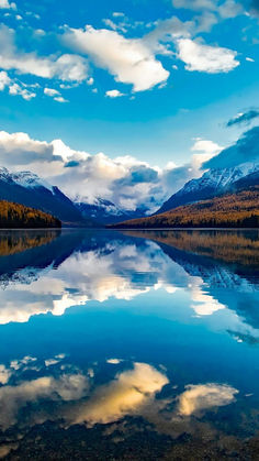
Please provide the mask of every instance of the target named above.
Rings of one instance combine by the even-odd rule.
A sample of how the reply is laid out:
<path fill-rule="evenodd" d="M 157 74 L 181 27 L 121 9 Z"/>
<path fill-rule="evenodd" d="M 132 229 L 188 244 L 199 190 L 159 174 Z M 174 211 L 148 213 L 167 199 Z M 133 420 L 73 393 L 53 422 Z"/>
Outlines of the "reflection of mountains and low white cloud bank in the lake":
<path fill-rule="evenodd" d="M 0 248 L 2 325 L 183 288 L 198 316 L 228 308 L 259 327 L 258 231 L 12 232 L 1 234 Z"/>

